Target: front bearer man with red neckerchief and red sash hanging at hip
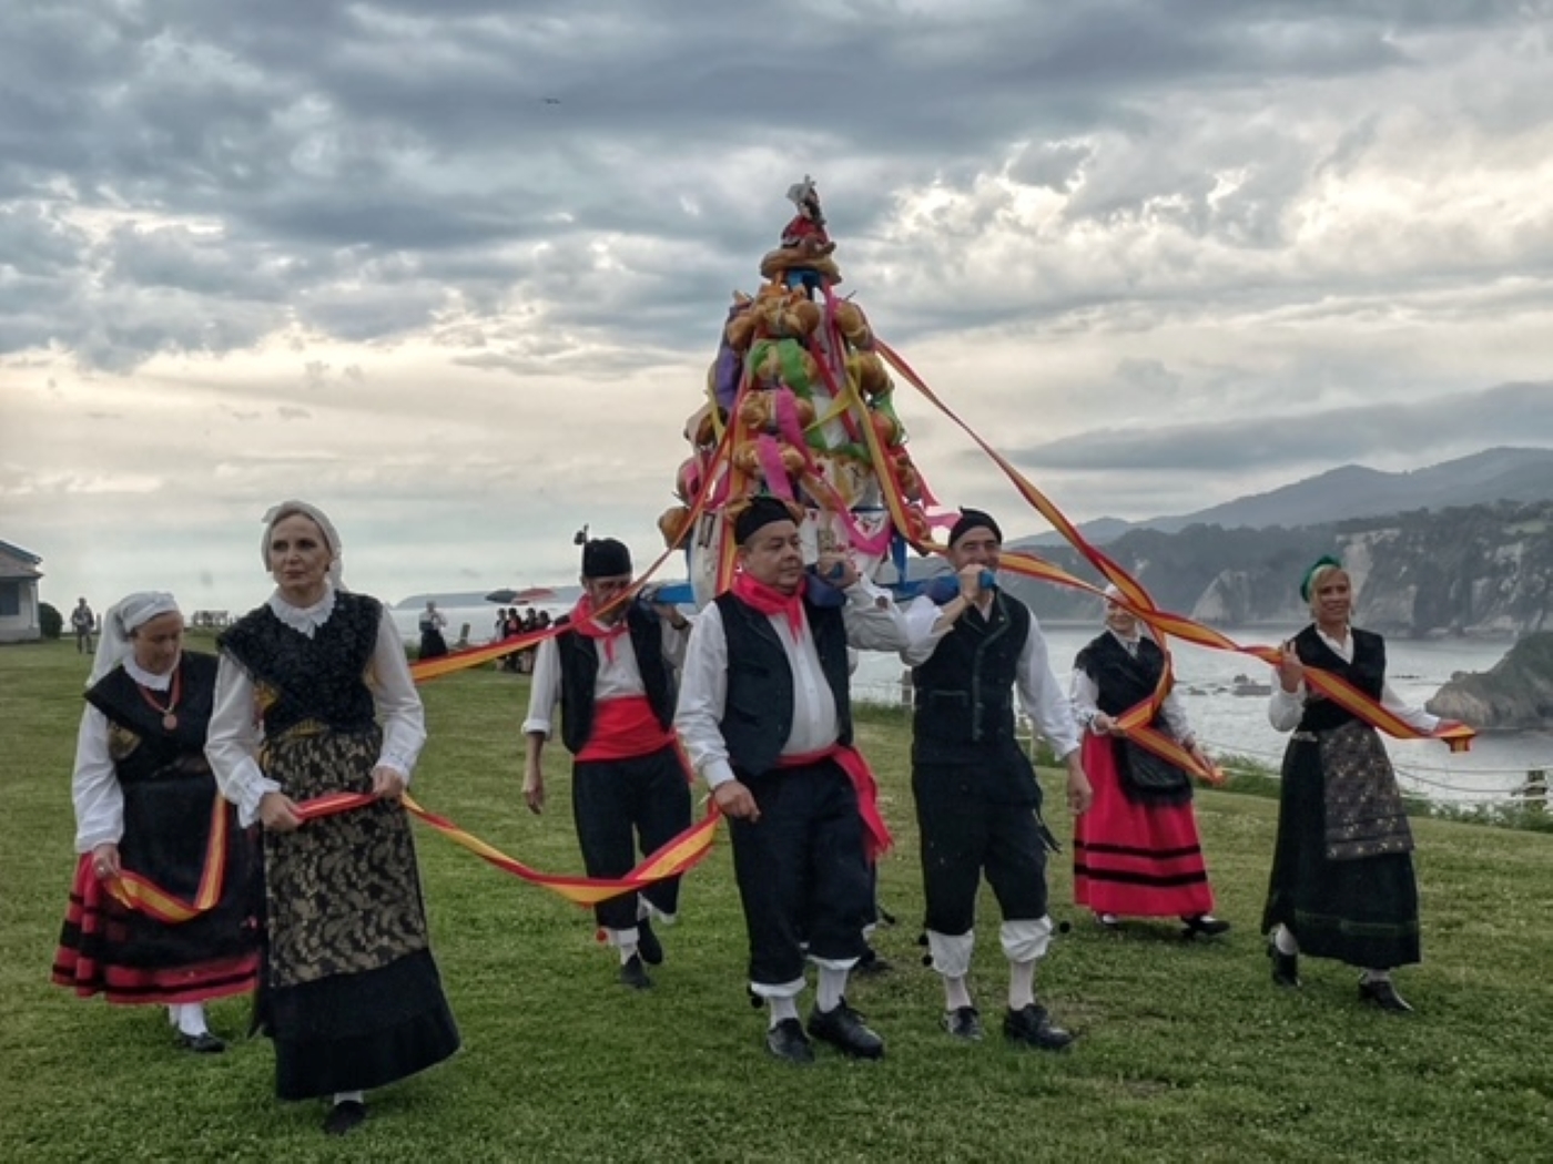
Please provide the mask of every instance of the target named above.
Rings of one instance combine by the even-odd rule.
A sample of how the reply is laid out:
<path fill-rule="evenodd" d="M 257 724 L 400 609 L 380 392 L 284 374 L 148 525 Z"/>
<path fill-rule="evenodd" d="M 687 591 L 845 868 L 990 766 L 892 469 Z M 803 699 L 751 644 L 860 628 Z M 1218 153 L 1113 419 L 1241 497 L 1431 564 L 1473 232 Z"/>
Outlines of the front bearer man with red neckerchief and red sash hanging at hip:
<path fill-rule="evenodd" d="M 888 844 L 873 774 L 851 747 L 848 646 L 901 650 L 895 602 L 845 554 L 820 554 L 811 585 L 801 512 L 759 497 L 733 520 L 733 587 L 696 618 L 676 725 L 728 816 L 750 936 L 750 992 L 769 1007 L 766 1048 L 814 1058 L 808 1035 L 877 1058 L 884 1040 L 846 1004 L 874 903 L 868 861 Z M 820 593 L 823 590 L 823 594 Z M 840 591 L 840 604 L 831 599 Z M 808 1035 L 797 998 L 818 987 Z"/>

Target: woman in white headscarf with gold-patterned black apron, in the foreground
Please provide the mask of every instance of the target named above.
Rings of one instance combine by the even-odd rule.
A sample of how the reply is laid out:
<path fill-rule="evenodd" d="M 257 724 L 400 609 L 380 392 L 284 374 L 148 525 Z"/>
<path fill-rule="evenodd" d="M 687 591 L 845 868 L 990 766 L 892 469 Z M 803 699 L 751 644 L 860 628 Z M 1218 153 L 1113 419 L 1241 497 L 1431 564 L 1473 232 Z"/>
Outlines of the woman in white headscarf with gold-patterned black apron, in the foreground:
<path fill-rule="evenodd" d="M 276 590 L 221 636 L 207 754 L 241 819 L 262 826 L 256 1024 L 275 1041 L 276 1094 L 328 1097 L 325 1130 L 343 1135 L 367 1090 L 458 1049 L 401 804 L 426 720 L 382 604 L 343 587 L 329 518 L 283 501 L 261 556 Z M 376 799 L 298 815 L 342 792 Z"/>

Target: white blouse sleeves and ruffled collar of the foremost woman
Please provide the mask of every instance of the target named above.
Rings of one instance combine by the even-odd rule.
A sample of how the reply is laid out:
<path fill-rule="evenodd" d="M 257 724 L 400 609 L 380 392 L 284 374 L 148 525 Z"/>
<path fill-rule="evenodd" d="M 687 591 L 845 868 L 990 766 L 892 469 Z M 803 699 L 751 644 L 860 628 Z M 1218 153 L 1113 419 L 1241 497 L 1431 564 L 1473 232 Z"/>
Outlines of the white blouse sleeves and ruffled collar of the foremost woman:
<path fill-rule="evenodd" d="M 270 594 L 269 607 L 287 627 L 312 638 L 334 613 L 334 588 L 328 588 L 323 599 L 312 607 L 294 607 L 276 591 Z M 367 663 L 365 680 L 384 726 L 382 753 L 374 767 L 391 768 L 408 784 L 415 762 L 426 745 L 426 709 L 410 677 L 399 632 L 394 630 L 387 610 L 377 621 L 377 643 Z M 205 756 L 216 773 L 216 785 L 238 805 L 238 821 L 244 826 L 258 819 L 259 801 L 266 793 L 281 790 L 281 785 L 259 768 L 258 754 L 264 728 L 255 695 L 248 672 L 230 653 L 221 652 L 216 669 L 216 709 L 210 717 Z"/>

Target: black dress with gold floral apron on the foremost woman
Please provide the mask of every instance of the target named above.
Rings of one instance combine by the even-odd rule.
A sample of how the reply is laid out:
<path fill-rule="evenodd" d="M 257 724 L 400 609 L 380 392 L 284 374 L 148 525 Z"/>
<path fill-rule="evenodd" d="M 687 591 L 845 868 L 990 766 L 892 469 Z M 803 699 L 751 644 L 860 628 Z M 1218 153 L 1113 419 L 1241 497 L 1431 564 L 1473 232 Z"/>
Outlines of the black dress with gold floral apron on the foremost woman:
<path fill-rule="evenodd" d="M 259 607 L 221 639 L 258 692 L 264 774 L 294 801 L 371 790 L 382 728 L 363 677 L 382 616 L 376 599 L 337 593 L 312 638 Z M 458 1049 L 402 804 L 266 832 L 264 905 L 256 1021 L 281 1099 L 382 1086 Z"/>

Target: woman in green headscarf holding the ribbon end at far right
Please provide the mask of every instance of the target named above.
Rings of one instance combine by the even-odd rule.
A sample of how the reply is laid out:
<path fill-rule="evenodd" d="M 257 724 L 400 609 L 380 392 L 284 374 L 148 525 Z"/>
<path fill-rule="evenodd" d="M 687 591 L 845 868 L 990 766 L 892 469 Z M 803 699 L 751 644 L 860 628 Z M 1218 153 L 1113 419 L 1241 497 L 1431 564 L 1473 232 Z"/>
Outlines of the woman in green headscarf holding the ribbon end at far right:
<path fill-rule="evenodd" d="M 1396 774 L 1376 729 L 1308 681 L 1309 669 L 1345 680 L 1368 702 L 1421 731 L 1441 720 L 1402 703 L 1385 681 L 1385 639 L 1350 625 L 1353 584 L 1320 557 L 1300 584 L 1314 622 L 1283 644 L 1269 720 L 1292 731 L 1283 757 L 1278 840 L 1263 928 L 1272 979 L 1298 987 L 1298 954 L 1359 967 L 1359 998 L 1382 1010 L 1412 1007 L 1391 970 L 1419 961 L 1413 835 Z M 1351 706 L 1350 706 L 1351 705 Z"/>

